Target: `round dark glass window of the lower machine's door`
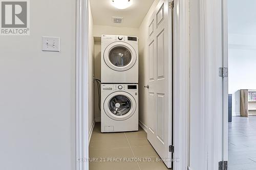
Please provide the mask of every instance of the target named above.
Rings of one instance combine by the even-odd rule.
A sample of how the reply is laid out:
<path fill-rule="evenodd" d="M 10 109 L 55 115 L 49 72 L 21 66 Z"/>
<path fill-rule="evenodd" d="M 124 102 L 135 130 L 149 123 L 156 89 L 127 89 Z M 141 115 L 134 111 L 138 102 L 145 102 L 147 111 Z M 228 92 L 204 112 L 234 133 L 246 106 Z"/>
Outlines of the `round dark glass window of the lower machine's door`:
<path fill-rule="evenodd" d="M 132 103 L 130 99 L 124 95 L 116 95 L 109 102 L 110 111 L 117 116 L 127 114 L 131 108 Z"/>

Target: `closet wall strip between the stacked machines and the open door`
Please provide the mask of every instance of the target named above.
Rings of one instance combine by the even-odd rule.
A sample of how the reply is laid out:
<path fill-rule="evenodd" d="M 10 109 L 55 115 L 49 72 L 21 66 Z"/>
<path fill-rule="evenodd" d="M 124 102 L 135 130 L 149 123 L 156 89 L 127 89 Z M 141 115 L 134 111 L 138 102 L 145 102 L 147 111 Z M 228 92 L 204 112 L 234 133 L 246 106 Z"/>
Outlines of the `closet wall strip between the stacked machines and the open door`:
<path fill-rule="evenodd" d="M 139 28 L 139 120 L 145 126 L 147 126 L 147 89 L 144 85 L 148 80 L 148 22 L 150 17 L 155 11 L 159 0 L 155 0 L 150 10 L 148 10 L 145 18 L 143 19 Z"/>

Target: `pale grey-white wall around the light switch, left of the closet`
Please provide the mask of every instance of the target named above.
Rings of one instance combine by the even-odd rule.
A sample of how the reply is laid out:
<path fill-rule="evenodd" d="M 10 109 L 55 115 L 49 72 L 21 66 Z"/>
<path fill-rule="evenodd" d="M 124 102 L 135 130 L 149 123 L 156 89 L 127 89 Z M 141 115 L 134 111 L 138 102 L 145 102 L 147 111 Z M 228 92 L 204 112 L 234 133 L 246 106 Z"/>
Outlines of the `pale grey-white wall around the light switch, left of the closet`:
<path fill-rule="evenodd" d="M 0 169 L 75 169 L 76 1 L 30 6 L 30 36 L 0 37 Z M 41 52 L 42 36 L 61 52 Z"/>

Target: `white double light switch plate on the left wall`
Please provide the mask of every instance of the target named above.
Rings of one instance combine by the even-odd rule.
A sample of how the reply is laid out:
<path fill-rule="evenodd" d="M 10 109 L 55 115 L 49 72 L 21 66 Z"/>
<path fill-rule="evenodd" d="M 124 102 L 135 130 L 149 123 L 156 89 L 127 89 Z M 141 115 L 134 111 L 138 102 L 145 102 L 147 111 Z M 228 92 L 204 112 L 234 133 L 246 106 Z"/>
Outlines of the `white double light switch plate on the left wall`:
<path fill-rule="evenodd" d="M 60 38 L 42 37 L 42 51 L 60 52 Z"/>

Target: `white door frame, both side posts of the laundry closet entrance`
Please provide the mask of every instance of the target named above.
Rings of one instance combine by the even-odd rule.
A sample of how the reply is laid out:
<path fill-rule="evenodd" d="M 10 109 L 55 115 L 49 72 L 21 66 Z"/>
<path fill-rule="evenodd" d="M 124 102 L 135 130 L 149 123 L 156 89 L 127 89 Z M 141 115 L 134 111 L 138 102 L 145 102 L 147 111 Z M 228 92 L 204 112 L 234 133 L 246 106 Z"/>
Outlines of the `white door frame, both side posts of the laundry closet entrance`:
<path fill-rule="evenodd" d="M 76 170 L 89 170 L 88 56 L 89 0 L 76 0 Z M 174 170 L 189 162 L 189 3 L 174 3 Z M 185 50 L 184 50 L 185 49 Z"/>

